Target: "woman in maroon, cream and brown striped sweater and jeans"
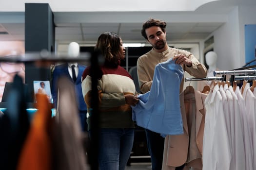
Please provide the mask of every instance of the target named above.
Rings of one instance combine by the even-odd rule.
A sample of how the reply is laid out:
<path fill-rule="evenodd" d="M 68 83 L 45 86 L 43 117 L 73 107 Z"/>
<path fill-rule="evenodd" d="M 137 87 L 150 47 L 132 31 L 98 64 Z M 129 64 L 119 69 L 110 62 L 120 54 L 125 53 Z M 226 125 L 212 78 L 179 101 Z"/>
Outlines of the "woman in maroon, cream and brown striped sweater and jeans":
<path fill-rule="evenodd" d="M 98 76 L 99 168 L 100 170 L 124 170 L 134 140 L 135 125 L 130 105 L 138 103 L 135 85 L 130 74 L 119 66 L 120 61 L 125 57 L 125 48 L 117 34 L 110 32 L 101 34 L 95 50 L 105 58 Z M 82 93 L 89 111 L 87 123 L 90 134 L 92 127 L 90 67 L 87 67 L 82 75 Z"/>

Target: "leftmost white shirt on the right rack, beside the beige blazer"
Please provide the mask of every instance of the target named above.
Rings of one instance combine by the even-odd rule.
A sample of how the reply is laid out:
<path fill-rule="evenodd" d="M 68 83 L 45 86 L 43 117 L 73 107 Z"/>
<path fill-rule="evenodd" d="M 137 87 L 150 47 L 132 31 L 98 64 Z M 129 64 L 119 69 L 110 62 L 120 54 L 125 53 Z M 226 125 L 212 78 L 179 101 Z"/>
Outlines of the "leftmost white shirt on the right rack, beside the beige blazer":
<path fill-rule="evenodd" d="M 210 93 L 205 99 L 203 170 L 230 170 L 231 151 L 218 85 Z"/>

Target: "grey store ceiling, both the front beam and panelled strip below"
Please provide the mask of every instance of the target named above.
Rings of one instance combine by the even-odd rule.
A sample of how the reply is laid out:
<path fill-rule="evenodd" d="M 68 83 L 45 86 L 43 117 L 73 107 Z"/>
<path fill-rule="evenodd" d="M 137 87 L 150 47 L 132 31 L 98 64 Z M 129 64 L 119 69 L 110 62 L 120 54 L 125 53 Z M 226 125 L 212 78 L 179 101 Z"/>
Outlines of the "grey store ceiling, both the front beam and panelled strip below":
<path fill-rule="evenodd" d="M 143 43 L 146 41 L 140 34 L 142 23 L 154 17 L 167 22 L 168 41 L 191 42 L 207 38 L 225 24 L 229 12 L 241 2 L 256 5 L 256 0 L 220 0 L 193 12 L 54 12 L 55 39 L 59 44 L 95 43 L 99 34 L 110 31 L 118 33 L 124 42 Z M 10 18 L 16 19 L 10 22 L 0 19 L 0 41 L 24 40 L 24 13 L 13 13 Z"/>

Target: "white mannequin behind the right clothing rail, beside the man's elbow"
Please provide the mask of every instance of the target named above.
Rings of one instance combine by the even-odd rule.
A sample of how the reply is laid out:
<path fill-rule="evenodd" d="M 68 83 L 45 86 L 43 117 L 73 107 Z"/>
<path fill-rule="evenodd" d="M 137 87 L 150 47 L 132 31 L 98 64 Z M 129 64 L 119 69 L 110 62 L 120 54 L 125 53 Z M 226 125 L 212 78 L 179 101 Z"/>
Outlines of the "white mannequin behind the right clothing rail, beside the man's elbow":
<path fill-rule="evenodd" d="M 216 66 L 217 53 L 215 51 L 209 51 L 205 54 L 205 62 L 209 66 L 207 70 L 207 77 L 215 77 L 214 71 L 219 70 Z M 213 81 L 198 81 L 197 90 L 202 91 L 204 86 L 209 85 L 212 88 Z"/>

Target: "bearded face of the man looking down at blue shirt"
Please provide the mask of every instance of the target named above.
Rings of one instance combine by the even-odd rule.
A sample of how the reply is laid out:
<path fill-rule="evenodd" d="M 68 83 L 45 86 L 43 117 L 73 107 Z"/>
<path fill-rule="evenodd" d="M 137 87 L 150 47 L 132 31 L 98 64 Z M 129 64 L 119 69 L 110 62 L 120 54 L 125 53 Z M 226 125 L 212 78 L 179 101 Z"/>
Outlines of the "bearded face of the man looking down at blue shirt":
<path fill-rule="evenodd" d="M 148 42 L 157 50 L 161 50 L 166 46 L 166 33 L 160 27 L 153 26 L 145 30 Z"/>

